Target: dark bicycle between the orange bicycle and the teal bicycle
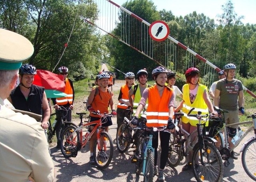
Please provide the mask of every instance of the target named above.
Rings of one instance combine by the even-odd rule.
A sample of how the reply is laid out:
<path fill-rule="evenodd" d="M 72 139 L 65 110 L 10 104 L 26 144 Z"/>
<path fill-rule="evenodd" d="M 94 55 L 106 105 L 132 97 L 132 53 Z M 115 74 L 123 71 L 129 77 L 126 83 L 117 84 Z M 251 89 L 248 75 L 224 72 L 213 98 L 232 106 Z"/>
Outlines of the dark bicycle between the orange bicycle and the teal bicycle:
<path fill-rule="evenodd" d="M 130 144 L 132 144 L 132 148 L 136 148 L 134 147 L 137 138 L 136 130 L 134 130 L 132 134 L 133 129 L 129 125 L 129 121 L 132 120 L 133 117 L 133 111 L 130 110 L 131 108 L 136 109 L 137 107 L 129 107 L 126 109 L 129 111 L 128 114 L 130 118 L 124 117 L 124 122 L 120 124 L 116 132 L 116 147 L 120 153 L 126 152 Z"/>

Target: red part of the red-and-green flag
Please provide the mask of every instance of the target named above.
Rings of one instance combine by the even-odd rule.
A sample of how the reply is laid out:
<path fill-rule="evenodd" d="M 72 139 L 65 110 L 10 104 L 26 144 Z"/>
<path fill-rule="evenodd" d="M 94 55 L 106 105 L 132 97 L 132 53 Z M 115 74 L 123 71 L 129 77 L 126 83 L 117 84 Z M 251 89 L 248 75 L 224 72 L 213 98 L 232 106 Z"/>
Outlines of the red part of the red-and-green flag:
<path fill-rule="evenodd" d="M 65 91 L 63 76 L 46 70 L 36 70 L 33 84 L 43 86 L 47 90 Z"/>

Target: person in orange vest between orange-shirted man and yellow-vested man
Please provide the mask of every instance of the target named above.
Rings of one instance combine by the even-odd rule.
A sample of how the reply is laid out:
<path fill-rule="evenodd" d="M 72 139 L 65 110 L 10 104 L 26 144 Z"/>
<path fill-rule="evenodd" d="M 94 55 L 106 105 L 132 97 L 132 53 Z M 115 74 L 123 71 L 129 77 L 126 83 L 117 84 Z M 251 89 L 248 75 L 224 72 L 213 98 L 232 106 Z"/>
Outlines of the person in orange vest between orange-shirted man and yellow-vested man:
<path fill-rule="evenodd" d="M 125 77 L 125 85 L 121 86 L 119 96 L 118 96 L 118 105 L 117 105 L 117 129 L 120 124 L 124 122 L 124 117 L 129 118 L 129 111 L 126 110 L 128 106 L 130 106 L 130 101 L 128 97 L 128 92 L 132 88 L 134 83 L 135 75 L 132 72 L 128 72 L 124 75 Z"/>

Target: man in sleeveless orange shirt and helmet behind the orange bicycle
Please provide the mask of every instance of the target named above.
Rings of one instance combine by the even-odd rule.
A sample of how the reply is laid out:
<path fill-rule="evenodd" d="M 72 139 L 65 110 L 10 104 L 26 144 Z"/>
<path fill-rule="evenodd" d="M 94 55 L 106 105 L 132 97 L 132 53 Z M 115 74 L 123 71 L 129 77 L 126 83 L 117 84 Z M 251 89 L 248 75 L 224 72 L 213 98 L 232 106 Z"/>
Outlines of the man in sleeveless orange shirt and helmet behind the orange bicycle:
<path fill-rule="evenodd" d="M 90 122 L 99 120 L 100 116 L 92 114 L 93 111 L 100 111 L 100 113 L 108 113 L 108 106 L 110 106 L 112 110 L 112 114 L 116 115 L 116 110 L 114 109 L 114 102 L 113 102 L 113 94 L 108 89 L 108 82 L 109 82 L 109 74 L 102 73 L 98 75 L 100 85 L 97 88 L 92 89 L 90 95 L 88 96 L 88 100 L 86 102 L 86 108 L 90 112 Z M 96 94 L 96 89 L 98 89 L 98 94 Z M 95 95 L 96 94 L 96 95 Z M 108 131 L 108 126 L 112 125 L 112 120 L 108 117 L 108 121 L 104 123 L 106 126 L 106 131 Z M 95 126 L 95 125 L 94 125 Z M 92 131 L 94 126 L 90 126 L 90 130 Z M 94 157 L 93 157 L 93 150 L 94 150 L 94 143 L 96 142 L 97 133 L 94 132 L 93 136 L 90 138 L 89 147 L 90 147 L 90 164 L 95 164 Z M 104 155 L 104 151 L 101 152 L 101 155 Z M 106 154 L 105 154 L 106 155 Z"/>

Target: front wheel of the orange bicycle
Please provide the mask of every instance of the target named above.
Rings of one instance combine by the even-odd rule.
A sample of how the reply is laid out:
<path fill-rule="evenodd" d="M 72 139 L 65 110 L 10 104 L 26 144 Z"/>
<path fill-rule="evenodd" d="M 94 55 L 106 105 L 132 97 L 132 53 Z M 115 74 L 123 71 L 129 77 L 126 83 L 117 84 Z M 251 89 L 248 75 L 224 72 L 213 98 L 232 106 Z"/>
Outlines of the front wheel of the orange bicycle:
<path fill-rule="evenodd" d="M 98 142 L 96 141 L 93 156 L 96 166 L 100 169 L 105 169 L 112 160 L 114 150 L 113 141 L 107 132 L 101 132 L 99 140 L 100 146 L 98 146 Z"/>

